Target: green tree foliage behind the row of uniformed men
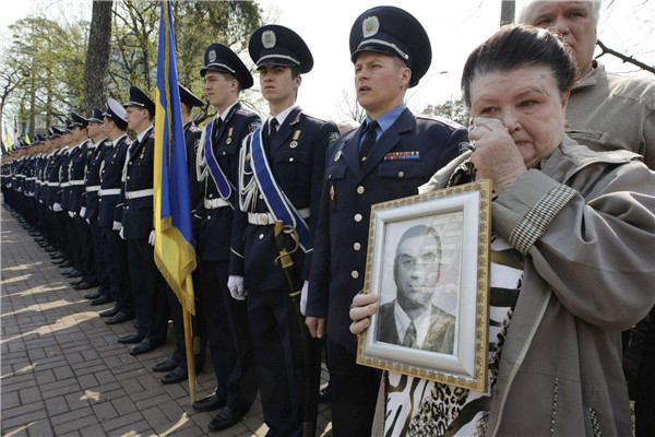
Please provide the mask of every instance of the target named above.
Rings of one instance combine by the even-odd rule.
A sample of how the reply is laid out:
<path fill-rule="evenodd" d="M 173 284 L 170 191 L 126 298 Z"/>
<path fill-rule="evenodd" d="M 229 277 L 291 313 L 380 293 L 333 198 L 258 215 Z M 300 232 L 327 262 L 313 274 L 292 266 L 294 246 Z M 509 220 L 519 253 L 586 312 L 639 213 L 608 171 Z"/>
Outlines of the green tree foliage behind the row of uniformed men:
<path fill-rule="evenodd" d="M 50 0 L 55 1 L 55 0 Z M 174 1 L 178 74 L 180 82 L 199 97 L 204 97 L 200 69 L 204 51 L 212 43 L 231 47 L 249 61 L 250 35 L 262 25 L 262 10 L 252 1 Z M 116 0 L 112 12 L 111 52 L 108 93 L 127 102 L 130 84 L 155 97 L 157 43 L 160 2 Z M 17 21 L 11 26 L 12 43 L 0 59 L 0 78 L 19 71 L 20 85 L 12 90 L 10 103 L 19 123 L 43 132 L 61 126 L 71 110 L 84 107 L 84 69 L 88 21 L 56 22 L 46 12 Z M 14 74 L 15 75 L 15 74 Z M 243 93 L 257 106 L 259 93 Z M 214 109 L 194 110 L 202 121 Z"/>

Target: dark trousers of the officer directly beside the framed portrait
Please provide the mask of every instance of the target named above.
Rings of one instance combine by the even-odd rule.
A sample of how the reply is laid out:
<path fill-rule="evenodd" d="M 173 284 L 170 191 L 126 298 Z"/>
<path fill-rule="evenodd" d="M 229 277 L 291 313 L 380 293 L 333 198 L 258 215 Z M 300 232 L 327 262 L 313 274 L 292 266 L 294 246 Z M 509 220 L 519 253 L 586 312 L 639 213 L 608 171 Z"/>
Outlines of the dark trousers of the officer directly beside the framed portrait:
<path fill-rule="evenodd" d="M 357 355 L 327 339 L 334 437 L 368 437 L 376 414 L 382 373 L 360 366 Z"/>

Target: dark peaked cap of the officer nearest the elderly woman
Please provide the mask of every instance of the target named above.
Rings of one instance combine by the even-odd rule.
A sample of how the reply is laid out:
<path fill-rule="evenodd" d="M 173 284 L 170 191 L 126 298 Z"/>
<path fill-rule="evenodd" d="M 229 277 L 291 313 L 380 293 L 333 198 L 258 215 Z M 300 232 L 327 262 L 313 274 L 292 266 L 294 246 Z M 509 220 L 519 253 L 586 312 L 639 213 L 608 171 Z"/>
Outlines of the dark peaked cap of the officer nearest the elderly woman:
<path fill-rule="evenodd" d="M 412 70 L 409 87 L 416 86 L 432 62 L 430 38 L 407 11 L 395 7 L 372 8 L 357 17 L 350 29 L 350 60 L 364 51 L 401 58 Z"/>

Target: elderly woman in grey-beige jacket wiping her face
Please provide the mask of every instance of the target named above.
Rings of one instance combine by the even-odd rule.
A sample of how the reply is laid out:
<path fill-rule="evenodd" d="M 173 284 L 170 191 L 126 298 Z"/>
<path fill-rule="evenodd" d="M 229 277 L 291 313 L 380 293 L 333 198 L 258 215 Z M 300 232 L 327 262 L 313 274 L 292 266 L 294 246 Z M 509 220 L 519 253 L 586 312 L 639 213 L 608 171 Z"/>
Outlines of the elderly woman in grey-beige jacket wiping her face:
<path fill-rule="evenodd" d="M 631 435 L 620 332 L 655 302 L 655 174 L 564 134 L 574 79 L 544 29 L 504 27 L 468 57 L 473 151 L 420 192 L 493 182 L 490 390 L 425 382 L 417 402 L 421 381 L 389 373 L 373 434 Z M 356 296 L 353 333 L 376 300 Z"/>

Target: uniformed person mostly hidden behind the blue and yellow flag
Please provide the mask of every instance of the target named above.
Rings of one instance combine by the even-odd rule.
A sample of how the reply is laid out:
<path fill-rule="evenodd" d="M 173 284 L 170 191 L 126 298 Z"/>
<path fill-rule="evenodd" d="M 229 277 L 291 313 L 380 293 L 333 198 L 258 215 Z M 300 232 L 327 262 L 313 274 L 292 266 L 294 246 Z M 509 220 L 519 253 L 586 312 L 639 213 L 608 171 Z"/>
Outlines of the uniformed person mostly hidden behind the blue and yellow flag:
<path fill-rule="evenodd" d="M 202 131 L 195 126 L 195 123 L 191 120 L 191 110 L 193 107 L 200 107 L 204 104 L 200 98 L 198 98 L 193 93 L 191 93 L 188 88 L 178 84 L 179 93 L 180 93 L 180 105 L 181 105 L 181 114 L 182 114 L 182 123 L 184 129 L 184 140 L 187 145 L 187 160 L 189 164 L 189 169 L 195 170 L 195 145 L 200 141 L 200 135 Z M 195 177 L 189 179 L 190 180 L 190 197 L 191 204 L 194 204 L 198 201 L 198 181 Z M 153 371 L 168 371 L 168 374 L 164 375 L 159 380 L 162 383 L 175 383 L 181 382 L 187 379 L 188 370 L 187 370 L 187 347 L 186 347 L 186 339 L 184 339 L 184 321 L 182 317 L 182 306 L 175 295 L 172 288 L 168 284 L 165 284 L 166 287 L 166 297 L 168 299 L 168 312 L 170 318 L 172 319 L 172 328 L 175 332 L 175 343 L 176 350 L 172 353 L 172 356 L 164 363 L 158 363 L 153 366 Z M 196 318 L 192 318 L 193 322 L 196 321 Z M 195 328 L 198 323 L 193 323 L 193 334 L 194 338 L 201 339 L 201 332 Z M 195 356 L 196 366 L 195 371 L 202 371 L 204 367 L 204 350 L 203 345 L 199 347 L 199 353 Z"/>

